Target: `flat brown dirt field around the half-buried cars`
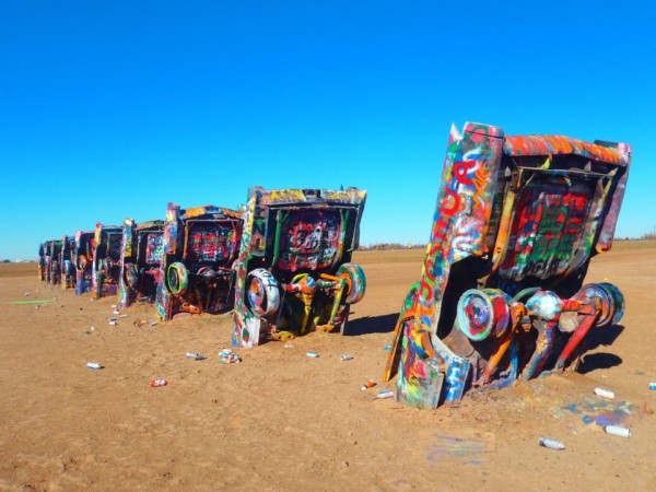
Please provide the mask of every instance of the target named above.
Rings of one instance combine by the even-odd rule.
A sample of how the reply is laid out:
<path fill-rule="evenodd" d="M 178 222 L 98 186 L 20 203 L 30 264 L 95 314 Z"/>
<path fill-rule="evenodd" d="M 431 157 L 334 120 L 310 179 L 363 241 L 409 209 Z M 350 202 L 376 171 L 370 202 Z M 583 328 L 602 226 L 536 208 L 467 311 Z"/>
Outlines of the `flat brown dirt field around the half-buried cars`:
<path fill-rule="evenodd" d="M 238 349 L 241 364 L 218 358 L 230 315 L 138 327 L 154 308 L 137 305 L 110 326 L 117 300 L 50 289 L 35 263 L 1 265 L 0 490 L 656 490 L 656 243 L 617 243 L 593 260 L 587 281 L 617 284 L 626 312 L 594 332 L 578 373 L 436 410 L 375 399 L 387 385 L 361 390 L 380 382 L 422 257 L 359 253 L 367 293 L 347 336 Z M 541 447 L 541 436 L 566 448 Z"/>

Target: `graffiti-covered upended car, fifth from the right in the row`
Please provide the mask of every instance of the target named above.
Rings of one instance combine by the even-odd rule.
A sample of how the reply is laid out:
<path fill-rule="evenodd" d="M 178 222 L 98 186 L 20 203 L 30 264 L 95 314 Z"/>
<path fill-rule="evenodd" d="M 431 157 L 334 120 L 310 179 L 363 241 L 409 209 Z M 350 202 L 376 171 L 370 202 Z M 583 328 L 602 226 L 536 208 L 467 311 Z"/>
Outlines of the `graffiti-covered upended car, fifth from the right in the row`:
<path fill-rule="evenodd" d="M 122 227 L 96 223 L 91 270 L 91 296 L 93 298 L 118 294 L 121 239 Z"/>

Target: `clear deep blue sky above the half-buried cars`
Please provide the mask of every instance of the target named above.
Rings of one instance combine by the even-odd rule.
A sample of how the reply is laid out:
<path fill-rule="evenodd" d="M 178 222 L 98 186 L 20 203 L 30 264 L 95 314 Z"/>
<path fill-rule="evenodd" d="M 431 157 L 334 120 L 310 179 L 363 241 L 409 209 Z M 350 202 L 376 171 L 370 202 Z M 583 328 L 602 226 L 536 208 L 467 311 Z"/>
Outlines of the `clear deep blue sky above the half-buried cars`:
<path fill-rule="evenodd" d="M 364 245 L 425 243 L 450 124 L 625 141 L 617 235 L 656 226 L 656 3 L 0 2 L 0 259 L 236 208 L 251 185 L 368 190 Z"/>

